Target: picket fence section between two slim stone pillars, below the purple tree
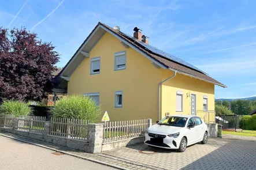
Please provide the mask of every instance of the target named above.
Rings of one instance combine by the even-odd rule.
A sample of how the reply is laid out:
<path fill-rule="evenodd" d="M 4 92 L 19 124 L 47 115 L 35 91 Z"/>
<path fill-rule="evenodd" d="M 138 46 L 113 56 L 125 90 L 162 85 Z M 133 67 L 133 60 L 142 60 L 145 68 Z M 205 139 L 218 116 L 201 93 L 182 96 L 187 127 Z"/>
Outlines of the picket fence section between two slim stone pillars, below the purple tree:
<path fill-rule="evenodd" d="M 17 130 L 43 133 L 46 117 L 41 116 L 18 116 Z"/>

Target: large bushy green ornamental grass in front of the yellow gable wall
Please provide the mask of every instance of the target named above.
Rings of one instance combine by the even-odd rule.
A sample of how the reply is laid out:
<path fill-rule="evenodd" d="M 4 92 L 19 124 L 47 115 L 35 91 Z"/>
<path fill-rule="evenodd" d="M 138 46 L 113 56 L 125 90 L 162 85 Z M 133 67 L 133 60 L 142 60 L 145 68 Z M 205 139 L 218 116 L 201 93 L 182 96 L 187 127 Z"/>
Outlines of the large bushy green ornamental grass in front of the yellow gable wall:
<path fill-rule="evenodd" d="M 91 123 L 98 123 L 101 116 L 101 109 L 90 97 L 73 95 L 65 96 L 51 108 L 54 118 L 69 118 L 90 120 Z"/>

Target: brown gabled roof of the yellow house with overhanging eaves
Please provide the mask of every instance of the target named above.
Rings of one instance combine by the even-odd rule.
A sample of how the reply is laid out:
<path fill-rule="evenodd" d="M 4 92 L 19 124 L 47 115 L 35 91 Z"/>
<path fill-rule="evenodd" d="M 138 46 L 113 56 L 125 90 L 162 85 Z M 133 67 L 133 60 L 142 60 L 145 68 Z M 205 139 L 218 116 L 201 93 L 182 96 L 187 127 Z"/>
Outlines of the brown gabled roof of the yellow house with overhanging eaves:
<path fill-rule="evenodd" d="M 129 47 L 132 47 L 134 50 L 138 51 L 140 54 L 146 56 L 151 61 L 156 63 L 157 65 L 161 66 L 163 69 L 170 69 L 173 71 L 177 71 L 177 73 L 188 75 L 190 77 L 198 78 L 203 81 L 210 82 L 212 84 L 216 84 L 219 86 L 222 86 L 226 88 L 224 84 L 221 84 L 221 82 L 218 82 L 217 80 L 214 80 L 214 78 L 210 77 L 206 73 L 204 73 L 202 70 L 197 69 L 196 67 L 189 65 L 188 63 L 184 62 L 177 62 L 177 60 L 173 60 L 172 58 L 167 58 L 165 54 L 168 54 L 166 52 L 162 52 L 161 55 L 160 52 L 155 52 L 152 50 L 149 50 L 149 48 L 146 48 L 142 41 L 138 41 L 134 39 L 133 37 L 118 31 L 116 29 L 113 29 L 105 24 L 102 24 L 101 22 L 98 23 L 98 25 L 92 30 L 90 35 L 87 37 L 87 39 L 81 44 L 79 49 L 76 51 L 76 53 L 72 56 L 72 58 L 69 60 L 69 62 L 66 64 L 64 69 L 62 69 L 60 75 L 62 77 L 65 77 L 66 80 L 68 80 L 68 77 L 75 71 L 76 67 L 79 66 L 79 64 L 83 61 L 84 55 L 80 52 L 86 52 L 90 53 L 92 48 L 95 46 L 95 44 L 98 43 L 98 41 L 101 39 L 101 37 L 106 33 L 109 32 L 113 36 L 117 37 L 122 41 L 123 43 L 127 44 Z M 154 49 L 157 49 L 154 47 Z M 157 49 L 159 50 L 159 49 Z M 161 50 L 159 50 L 161 51 Z M 168 54 L 169 55 L 169 54 Z M 179 59 L 179 58 L 178 58 Z M 182 61 L 180 59 L 180 61 Z"/>

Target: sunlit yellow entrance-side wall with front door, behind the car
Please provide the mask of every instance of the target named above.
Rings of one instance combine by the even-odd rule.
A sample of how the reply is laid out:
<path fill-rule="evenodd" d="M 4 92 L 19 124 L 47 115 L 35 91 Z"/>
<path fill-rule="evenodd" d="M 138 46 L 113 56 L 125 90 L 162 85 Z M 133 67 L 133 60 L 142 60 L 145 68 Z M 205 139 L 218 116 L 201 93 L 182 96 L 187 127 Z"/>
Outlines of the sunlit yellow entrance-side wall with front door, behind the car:
<path fill-rule="evenodd" d="M 174 73 L 170 70 L 164 70 L 162 80 L 166 80 Z M 183 111 L 176 111 L 176 93 L 183 93 Z M 205 120 L 214 122 L 215 115 L 208 115 L 203 112 L 203 97 L 207 96 L 207 110 L 214 111 L 214 84 L 188 77 L 187 75 L 177 73 L 174 78 L 162 84 L 161 92 L 161 116 L 169 112 L 173 114 L 191 115 L 191 95 L 195 95 L 195 109 L 198 111 L 198 116 L 205 117 Z"/>

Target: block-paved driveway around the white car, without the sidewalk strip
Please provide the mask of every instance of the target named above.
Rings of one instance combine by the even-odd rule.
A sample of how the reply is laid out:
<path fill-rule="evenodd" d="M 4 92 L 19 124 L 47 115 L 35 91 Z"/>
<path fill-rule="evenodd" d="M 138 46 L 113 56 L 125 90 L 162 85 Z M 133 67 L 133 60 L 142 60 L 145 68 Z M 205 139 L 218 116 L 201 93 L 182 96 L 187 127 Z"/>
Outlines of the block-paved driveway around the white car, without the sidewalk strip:
<path fill-rule="evenodd" d="M 139 150 L 154 150 L 155 153 L 140 153 Z M 256 169 L 256 141 L 230 137 L 210 138 L 206 145 L 192 145 L 184 153 L 140 144 L 103 154 L 154 169 Z"/>

